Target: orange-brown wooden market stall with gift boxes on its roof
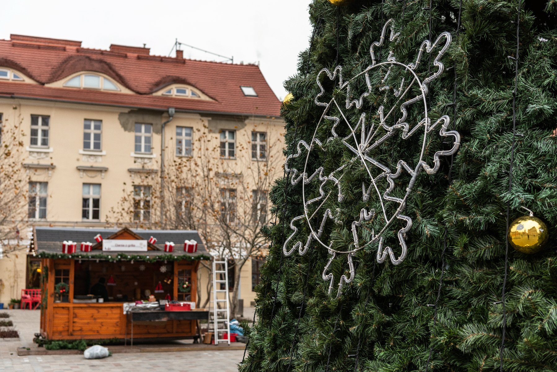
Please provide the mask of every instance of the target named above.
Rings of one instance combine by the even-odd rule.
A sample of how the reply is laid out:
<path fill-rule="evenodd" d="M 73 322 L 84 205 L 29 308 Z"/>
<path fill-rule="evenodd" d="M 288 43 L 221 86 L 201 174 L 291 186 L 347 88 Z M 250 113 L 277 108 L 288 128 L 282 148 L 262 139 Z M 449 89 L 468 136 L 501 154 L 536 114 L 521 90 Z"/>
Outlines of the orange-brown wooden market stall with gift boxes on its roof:
<path fill-rule="evenodd" d="M 209 258 L 196 231 L 36 227 L 33 239 L 41 258 L 41 335 L 49 340 L 129 338 L 124 304 L 134 309 L 136 301 L 150 296 L 194 307 L 199 260 Z M 184 241 L 193 251 L 192 240 L 197 251 L 184 252 Z M 71 242 L 77 242 L 75 253 Z M 165 242 L 175 242 L 172 252 L 165 252 Z M 68 253 L 62 252 L 63 245 Z M 196 338 L 196 319 L 206 319 L 207 311 L 191 311 L 187 319 L 157 313 L 159 321 L 136 322 L 133 337 Z"/>

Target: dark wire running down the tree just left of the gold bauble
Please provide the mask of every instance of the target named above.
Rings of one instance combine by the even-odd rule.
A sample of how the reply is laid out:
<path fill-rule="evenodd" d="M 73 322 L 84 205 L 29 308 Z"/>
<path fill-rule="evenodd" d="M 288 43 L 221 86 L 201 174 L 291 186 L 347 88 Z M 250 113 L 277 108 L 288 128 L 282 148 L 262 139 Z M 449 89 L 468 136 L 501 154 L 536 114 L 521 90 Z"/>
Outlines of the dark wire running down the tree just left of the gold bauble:
<path fill-rule="evenodd" d="M 515 87 L 512 90 L 512 143 L 511 143 L 511 154 L 510 154 L 510 164 L 509 164 L 509 193 L 512 190 L 512 165 L 515 160 L 515 145 L 516 145 L 516 93 L 518 89 L 519 82 L 519 50 L 520 50 L 520 11 L 521 11 L 521 0 L 518 0 L 518 11 L 516 14 L 516 53 L 514 57 L 515 61 Z M 505 275 L 503 277 L 503 288 L 501 291 L 501 305 L 503 310 L 503 324 L 501 330 L 501 347 L 499 349 L 499 359 L 500 359 L 500 371 L 503 371 L 503 351 L 505 350 L 505 332 L 507 324 L 507 311 L 505 306 L 505 290 L 507 286 L 507 271 L 509 262 L 509 225 L 510 225 L 510 201 L 507 202 L 507 229 L 505 233 Z"/>

